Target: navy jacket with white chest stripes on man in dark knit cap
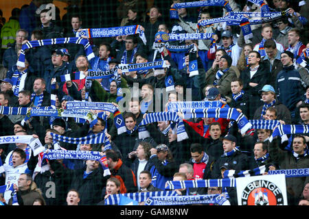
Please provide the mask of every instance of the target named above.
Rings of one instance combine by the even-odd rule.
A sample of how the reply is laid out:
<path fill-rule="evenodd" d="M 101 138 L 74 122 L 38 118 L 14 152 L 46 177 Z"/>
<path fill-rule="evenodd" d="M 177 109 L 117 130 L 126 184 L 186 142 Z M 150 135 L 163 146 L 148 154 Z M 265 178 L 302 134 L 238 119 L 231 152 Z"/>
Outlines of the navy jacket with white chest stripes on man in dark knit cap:
<path fill-rule="evenodd" d="M 281 101 L 290 112 L 296 109 L 296 104 L 301 101 L 304 94 L 304 82 L 295 66 L 284 67 L 279 71 L 276 81 L 277 98 Z"/>

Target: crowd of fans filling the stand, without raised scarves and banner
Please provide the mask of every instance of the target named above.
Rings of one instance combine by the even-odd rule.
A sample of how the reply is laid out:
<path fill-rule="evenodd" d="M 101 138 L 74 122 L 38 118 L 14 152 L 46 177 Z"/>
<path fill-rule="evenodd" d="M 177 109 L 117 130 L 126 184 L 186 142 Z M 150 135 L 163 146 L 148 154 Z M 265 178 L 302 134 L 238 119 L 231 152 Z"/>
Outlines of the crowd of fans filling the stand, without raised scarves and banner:
<path fill-rule="evenodd" d="M 122 112 L 127 130 L 122 134 L 117 133 L 110 113 L 105 120 L 98 118 L 93 127 L 75 118 L 50 120 L 47 116 L 34 116 L 23 124 L 25 116 L 0 114 L 0 136 L 34 135 L 51 150 L 55 142 L 50 133 L 80 138 L 105 132 L 112 146 L 104 151 L 104 144 L 59 142 L 62 150 L 100 151 L 106 155 L 111 175 L 103 177 L 100 162 L 94 160 L 48 160 L 49 170 L 38 171 L 38 156 L 33 155 L 28 144 L 0 144 L 2 164 L 11 166 L 1 171 L 0 185 L 18 175 L 14 189 L 19 205 L 104 205 L 110 194 L 163 191 L 166 181 L 172 180 L 221 179 L 224 170 L 252 170 L 262 165 L 266 165 L 266 172 L 308 168 L 308 133 L 291 136 L 289 145 L 281 138 L 270 142 L 273 130 L 250 129 L 242 134 L 237 124 L 226 118 L 187 120 L 179 112 L 187 139 L 177 140 L 172 121 L 168 120 L 146 125 L 150 137 L 139 139 L 141 120 L 152 112 L 167 111 L 167 104 L 174 101 L 220 101 L 221 108 L 236 108 L 248 120 L 309 124 L 308 65 L 297 62 L 309 49 L 308 14 L 302 14 L 308 3 L 264 1 L 274 12 L 289 9 L 288 16 L 251 25 L 253 38 L 245 39 L 235 25 L 197 26 L 199 21 L 225 16 L 227 11 L 222 7 L 181 8 L 179 19 L 170 19 L 171 5 L 179 2 L 183 1 L 154 1 L 147 7 L 146 1 L 121 1 L 118 5 L 83 1 L 82 5 L 69 5 L 61 20 L 57 8 L 52 18 L 49 9 L 42 6 L 44 1 L 33 0 L 30 5 L 14 8 L 9 21 L 0 21 L 1 106 L 47 107 L 52 105 L 51 94 L 56 94 L 57 109 L 65 109 L 67 101 L 108 102 L 119 107 L 123 98 L 120 90 L 130 90 L 131 94 Z M 250 1 L 229 0 L 229 5 L 235 12 L 260 11 Z M 111 10 L 106 11 L 108 7 Z M 95 53 L 91 60 L 80 44 L 45 45 L 27 49 L 25 67 L 16 65 L 27 41 L 75 37 L 82 28 L 127 25 L 141 25 L 147 43 L 138 34 L 90 38 Z M 194 44 L 197 48 L 198 75 L 190 77 L 189 53 L 166 48 L 155 53 L 152 49 L 158 31 L 213 33 L 216 45 L 211 40 L 174 42 L 176 46 Z M 118 69 L 119 80 L 94 79 L 89 90 L 85 79 L 52 86 L 60 75 L 113 70 L 119 64 L 154 60 L 165 60 L 169 67 L 128 73 Z M 306 55 L 304 61 L 308 62 Z M 170 76 L 174 89 L 162 100 L 159 97 L 162 90 L 166 92 Z M 133 89 L 136 83 L 139 90 Z M 92 112 L 98 114 L 100 110 Z M 309 205 L 308 185 L 309 177 L 286 178 L 288 205 Z M 176 192 L 221 194 L 222 190 L 190 188 Z M 229 188 L 228 193 L 225 205 L 238 205 L 236 188 Z M 12 201 L 0 194 L 0 203 L 12 205 Z"/>

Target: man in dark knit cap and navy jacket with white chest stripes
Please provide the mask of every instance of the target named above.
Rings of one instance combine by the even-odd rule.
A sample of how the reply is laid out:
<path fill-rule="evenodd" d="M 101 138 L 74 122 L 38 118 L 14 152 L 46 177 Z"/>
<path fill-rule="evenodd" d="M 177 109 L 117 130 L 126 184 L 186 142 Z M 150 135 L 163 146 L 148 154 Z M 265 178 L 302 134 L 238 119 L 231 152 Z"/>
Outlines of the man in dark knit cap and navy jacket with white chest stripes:
<path fill-rule="evenodd" d="M 304 94 L 304 82 L 295 70 L 293 60 L 294 55 L 290 51 L 281 53 L 284 68 L 278 73 L 276 81 L 277 98 L 288 107 L 291 118 L 295 118 L 295 110 L 301 104 L 301 95 Z"/>

